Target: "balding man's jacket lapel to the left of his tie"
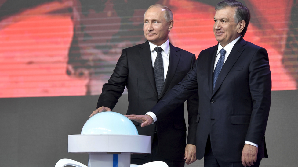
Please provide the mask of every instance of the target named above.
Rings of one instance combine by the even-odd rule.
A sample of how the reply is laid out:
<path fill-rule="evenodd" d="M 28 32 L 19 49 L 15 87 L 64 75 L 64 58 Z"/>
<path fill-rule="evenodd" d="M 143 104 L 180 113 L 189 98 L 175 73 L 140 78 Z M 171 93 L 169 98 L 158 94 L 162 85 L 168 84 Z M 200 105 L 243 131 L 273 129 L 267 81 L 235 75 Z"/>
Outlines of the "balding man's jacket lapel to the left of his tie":
<path fill-rule="evenodd" d="M 148 41 L 145 42 L 140 47 L 142 48 L 139 50 L 140 58 L 142 60 L 145 71 L 147 73 L 150 85 L 151 85 L 152 89 L 154 90 L 156 96 L 158 96 L 157 90 L 156 90 L 156 85 L 155 85 L 155 78 L 154 78 L 154 72 L 153 72 L 153 67 L 152 67 L 149 42 Z"/>

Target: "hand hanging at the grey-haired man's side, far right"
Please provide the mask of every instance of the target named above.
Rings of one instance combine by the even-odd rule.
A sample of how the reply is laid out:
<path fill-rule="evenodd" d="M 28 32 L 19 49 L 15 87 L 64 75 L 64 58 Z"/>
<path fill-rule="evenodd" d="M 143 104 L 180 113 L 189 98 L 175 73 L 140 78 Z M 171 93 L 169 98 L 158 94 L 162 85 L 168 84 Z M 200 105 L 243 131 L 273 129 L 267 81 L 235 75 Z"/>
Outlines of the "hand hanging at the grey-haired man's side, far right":
<path fill-rule="evenodd" d="M 251 166 L 253 162 L 256 162 L 256 155 L 258 154 L 258 148 L 250 144 L 244 144 L 242 149 L 241 162 L 243 166 Z"/>

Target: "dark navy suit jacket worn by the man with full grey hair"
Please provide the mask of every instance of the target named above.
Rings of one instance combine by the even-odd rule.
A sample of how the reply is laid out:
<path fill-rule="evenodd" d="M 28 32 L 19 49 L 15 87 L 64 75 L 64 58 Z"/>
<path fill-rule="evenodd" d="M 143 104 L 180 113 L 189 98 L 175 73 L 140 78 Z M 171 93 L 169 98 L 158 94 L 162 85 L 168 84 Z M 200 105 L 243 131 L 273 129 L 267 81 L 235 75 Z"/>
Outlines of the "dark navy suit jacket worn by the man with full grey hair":
<path fill-rule="evenodd" d="M 264 135 L 271 104 L 267 51 L 240 38 L 213 90 L 217 48 L 218 45 L 203 50 L 186 78 L 151 111 L 157 120 L 163 119 L 175 105 L 190 96 L 191 90 L 197 90 L 197 159 L 204 156 L 208 134 L 213 154 L 221 161 L 241 161 L 245 140 L 259 145 L 257 158 L 267 157 Z"/>

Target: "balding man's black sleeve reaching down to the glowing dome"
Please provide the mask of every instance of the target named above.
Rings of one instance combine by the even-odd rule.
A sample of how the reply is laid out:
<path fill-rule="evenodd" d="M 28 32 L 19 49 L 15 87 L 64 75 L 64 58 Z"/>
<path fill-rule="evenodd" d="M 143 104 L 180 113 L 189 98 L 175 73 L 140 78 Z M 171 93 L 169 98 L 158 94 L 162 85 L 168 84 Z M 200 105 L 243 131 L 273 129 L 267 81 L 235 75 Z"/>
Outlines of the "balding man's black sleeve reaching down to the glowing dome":
<path fill-rule="evenodd" d="M 112 110 L 125 89 L 127 78 L 127 53 L 126 50 L 123 49 L 111 78 L 103 85 L 102 93 L 98 98 L 97 108 L 105 106 Z"/>

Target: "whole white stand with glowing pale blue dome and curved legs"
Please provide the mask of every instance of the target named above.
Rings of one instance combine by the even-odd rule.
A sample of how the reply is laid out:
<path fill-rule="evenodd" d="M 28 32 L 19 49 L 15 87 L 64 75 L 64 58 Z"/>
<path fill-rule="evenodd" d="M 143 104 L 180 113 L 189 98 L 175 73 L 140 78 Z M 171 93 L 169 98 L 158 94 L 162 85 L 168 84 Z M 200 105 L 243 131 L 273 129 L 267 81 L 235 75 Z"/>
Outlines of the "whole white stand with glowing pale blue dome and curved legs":
<path fill-rule="evenodd" d="M 151 153 L 151 136 L 138 135 L 131 120 L 115 112 L 98 113 L 85 123 L 81 134 L 69 135 L 68 152 L 89 153 L 88 167 L 168 167 L 162 161 L 130 164 L 130 154 Z M 55 167 L 67 165 L 87 167 L 71 159 L 60 159 Z"/>

